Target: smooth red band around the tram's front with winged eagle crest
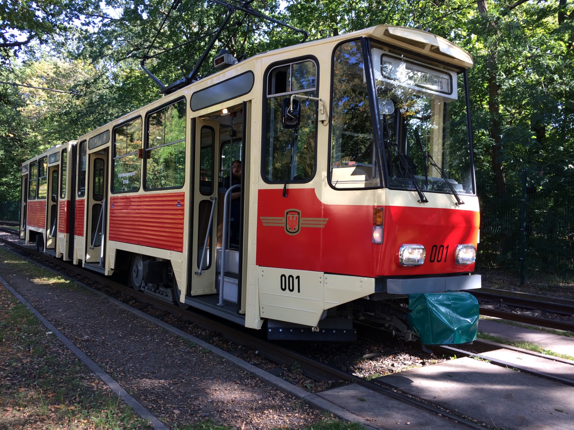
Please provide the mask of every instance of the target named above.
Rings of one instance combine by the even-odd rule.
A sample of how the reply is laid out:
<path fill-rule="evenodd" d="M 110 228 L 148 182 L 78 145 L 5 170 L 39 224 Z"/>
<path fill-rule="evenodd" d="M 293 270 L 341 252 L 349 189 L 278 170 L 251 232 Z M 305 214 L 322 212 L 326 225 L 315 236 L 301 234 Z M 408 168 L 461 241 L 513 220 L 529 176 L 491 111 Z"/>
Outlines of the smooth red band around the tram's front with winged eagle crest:
<path fill-rule="evenodd" d="M 405 268 L 395 262 L 395 254 L 401 244 L 416 243 L 424 245 L 433 261 L 407 268 L 409 275 L 474 270 L 474 264 L 455 264 L 455 249 L 460 243 L 476 245 L 478 212 L 385 206 L 383 243 L 379 245 L 371 243 L 373 208 L 327 205 L 312 188 L 289 190 L 288 201 L 280 190 L 259 190 L 257 265 L 355 276 L 401 276 L 406 274 Z M 293 219 L 293 226 L 288 218 Z"/>

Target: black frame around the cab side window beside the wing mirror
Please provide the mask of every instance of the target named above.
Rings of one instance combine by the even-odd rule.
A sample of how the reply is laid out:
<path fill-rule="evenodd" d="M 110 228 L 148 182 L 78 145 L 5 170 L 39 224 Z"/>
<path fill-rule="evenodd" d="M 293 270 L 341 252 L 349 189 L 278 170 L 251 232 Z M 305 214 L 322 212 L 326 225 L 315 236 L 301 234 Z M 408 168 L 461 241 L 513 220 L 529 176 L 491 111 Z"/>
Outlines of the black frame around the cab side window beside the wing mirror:
<path fill-rule="evenodd" d="M 267 99 L 269 97 L 267 97 L 267 83 L 269 80 L 269 73 L 276 67 L 279 67 L 281 65 L 288 65 L 288 64 L 293 64 L 296 62 L 302 62 L 302 61 L 306 61 L 306 60 L 311 60 L 315 63 L 315 67 L 316 67 L 316 75 L 315 75 L 315 92 L 316 92 L 316 96 L 319 97 L 319 88 L 320 88 L 320 64 L 319 64 L 319 60 L 317 59 L 317 57 L 315 57 L 314 55 L 304 55 L 304 56 L 300 56 L 300 57 L 294 57 L 294 58 L 289 58 L 288 60 L 281 60 L 281 61 L 276 61 L 273 62 L 272 64 L 270 64 L 269 66 L 267 66 L 267 68 L 265 69 L 265 73 L 263 73 L 263 91 L 262 91 L 262 107 L 261 107 L 261 166 L 260 166 L 260 174 L 261 174 L 261 179 L 263 180 L 263 182 L 265 183 L 270 183 L 270 184 L 280 184 L 280 183 L 285 183 L 285 180 L 279 180 L 279 181 L 270 181 L 269 178 L 267 178 L 267 174 L 265 172 L 265 156 L 266 156 L 266 147 L 267 147 L 267 138 L 266 138 L 266 132 L 267 132 Z M 331 80 L 332 81 L 332 80 Z M 281 96 L 284 95 L 285 97 L 288 97 L 289 95 L 292 94 L 298 94 L 298 93 L 302 93 L 305 91 L 299 91 L 299 92 L 288 92 L 288 93 L 277 93 L 277 95 L 272 95 L 272 96 Z M 313 181 L 313 179 L 315 179 L 315 175 L 317 174 L 317 157 L 318 157 L 318 146 L 319 146 L 319 140 L 318 140 L 318 136 L 319 136 L 319 102 L 317 101 L 317 111 L 315 114 L 315 118 L 316 118 L 316 122 L 317 125 L 315 127 L 315 163 L 313 165 L 313 173 L 311 174 L 311 176 L 308 179 L 297 179 L 297 180 L 293 180 L 293 181 L 288 181 L 288 183 L 309 183 L 311 181 Z M 331 129 L 331 126 L 329 125 L 329 130 Z"/>

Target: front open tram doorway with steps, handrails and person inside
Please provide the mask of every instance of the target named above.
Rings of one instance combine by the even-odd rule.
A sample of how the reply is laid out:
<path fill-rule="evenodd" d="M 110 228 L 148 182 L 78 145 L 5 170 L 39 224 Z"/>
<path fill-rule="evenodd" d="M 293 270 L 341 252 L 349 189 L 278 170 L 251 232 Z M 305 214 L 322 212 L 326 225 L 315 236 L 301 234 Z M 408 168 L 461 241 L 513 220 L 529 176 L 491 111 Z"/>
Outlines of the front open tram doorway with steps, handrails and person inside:
<path fill-rule="evenodd" d="M 245 304 L 241 292 L 243 196 L 231 202 L 224 217 L 226 191 L 234 160 L 245 159 L 245 105 L 236 105 L 195 120 L 193 146 L 193 201 L 190 220 L 191 252 L 188 266 L 188 293 L 185 303 L 203 308 L 223 318 L 245 324 Z M 245 181 L 242 175 L 241 184 Z M 231 205 L 236 208 L 232 210 Z M 234 218 L 230 219 L 231 212 Z M 224 218 L 227 239 L 223 243 Z M 215 246 L 214 246 L 215 244 Z M 224 260 L 223 260 L 224 259 Z M 203 263 L 202 263 L 203 261 Z M 221 267 L 224 261 L 223 294 Z"/>

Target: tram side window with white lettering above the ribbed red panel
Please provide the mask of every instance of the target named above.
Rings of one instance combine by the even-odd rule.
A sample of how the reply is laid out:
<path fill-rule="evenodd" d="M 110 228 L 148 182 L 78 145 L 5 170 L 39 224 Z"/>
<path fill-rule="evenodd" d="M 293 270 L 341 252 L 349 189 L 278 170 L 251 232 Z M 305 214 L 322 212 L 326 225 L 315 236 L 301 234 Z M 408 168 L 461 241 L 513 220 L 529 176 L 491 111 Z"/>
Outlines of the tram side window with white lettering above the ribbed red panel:
<path fill-rule="evenodd" d="M 142 147 L 142 119 L 135 119 L 114 129 L 114 164 L 112 192 L 129 193 L 139 190 Z"/>

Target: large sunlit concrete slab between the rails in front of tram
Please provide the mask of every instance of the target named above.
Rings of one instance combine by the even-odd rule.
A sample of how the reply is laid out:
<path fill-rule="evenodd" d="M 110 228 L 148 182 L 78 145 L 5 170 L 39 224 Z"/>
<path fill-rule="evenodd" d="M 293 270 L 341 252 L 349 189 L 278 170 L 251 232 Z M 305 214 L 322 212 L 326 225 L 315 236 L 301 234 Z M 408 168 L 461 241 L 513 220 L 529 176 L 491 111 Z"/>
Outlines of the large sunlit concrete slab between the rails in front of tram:
<path fill-rule="evenodd" d="M 490 426 L 572 430 L 574 422 L 572 386 L 472 358 L 377 380 Z"/>

